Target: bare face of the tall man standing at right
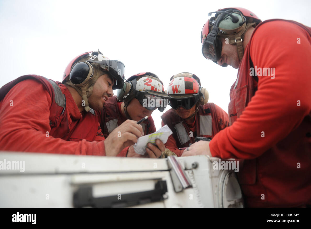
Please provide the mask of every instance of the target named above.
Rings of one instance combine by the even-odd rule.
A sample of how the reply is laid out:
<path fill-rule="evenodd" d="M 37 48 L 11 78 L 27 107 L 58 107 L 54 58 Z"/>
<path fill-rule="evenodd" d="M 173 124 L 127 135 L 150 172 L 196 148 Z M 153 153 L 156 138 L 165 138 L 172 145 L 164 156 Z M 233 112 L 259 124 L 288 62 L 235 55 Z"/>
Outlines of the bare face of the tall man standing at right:
<path fill-rule="evenodd" d="M 240 60 L 236 45 L 226 44 L 225 38 L 223 37 L 220 37 L 220 41 L 222 44 L 221 57 L 217 61 L 217 64 L 222 65 L 225 63 L 232 66 L 235 69 L 239 68 Z"/>

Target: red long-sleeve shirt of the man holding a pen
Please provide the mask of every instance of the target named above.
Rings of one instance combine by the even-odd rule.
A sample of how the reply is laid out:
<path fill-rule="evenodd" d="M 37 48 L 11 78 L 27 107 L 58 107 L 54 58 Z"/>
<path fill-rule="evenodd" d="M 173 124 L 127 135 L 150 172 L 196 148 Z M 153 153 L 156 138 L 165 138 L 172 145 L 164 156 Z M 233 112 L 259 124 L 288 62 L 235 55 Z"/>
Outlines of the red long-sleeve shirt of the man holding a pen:
<path fill-rule="evenodd" d="M 78 125 L 84 112 L 79 111 L 69 90 L 60 86 L 66 96 L 69 129 Z M 10 106 L 12 104 L 13 106 Z M 60 153 L 77 155 L 105 155 L 104 136 L 98 124 L 94 141 L 49 136 L 51 96 L 36 80 L 27 79 L 17 83 L 0 102 L 0 150 Z M 87 128 L 87 126 L 85 127 Z M 47 137 L 49 136 L 49 137 Z M 118 156 L 126 156 L 128 147 Z"/>

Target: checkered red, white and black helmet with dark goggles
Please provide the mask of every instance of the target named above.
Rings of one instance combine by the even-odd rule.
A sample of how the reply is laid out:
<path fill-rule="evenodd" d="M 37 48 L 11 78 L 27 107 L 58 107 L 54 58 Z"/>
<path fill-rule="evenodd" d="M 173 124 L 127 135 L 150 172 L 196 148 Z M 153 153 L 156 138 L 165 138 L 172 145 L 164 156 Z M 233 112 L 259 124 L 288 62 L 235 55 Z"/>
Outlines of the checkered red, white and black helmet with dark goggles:
<path fill-rule="evenodd" d="M 167 94 L 169 105 L 174 110 L 180 106 L 188 110 L 208 102 L 208 91 L 201 87 L 200 79 L 195 74 L 183 72 L 173 75 L 170 80 Z"/>

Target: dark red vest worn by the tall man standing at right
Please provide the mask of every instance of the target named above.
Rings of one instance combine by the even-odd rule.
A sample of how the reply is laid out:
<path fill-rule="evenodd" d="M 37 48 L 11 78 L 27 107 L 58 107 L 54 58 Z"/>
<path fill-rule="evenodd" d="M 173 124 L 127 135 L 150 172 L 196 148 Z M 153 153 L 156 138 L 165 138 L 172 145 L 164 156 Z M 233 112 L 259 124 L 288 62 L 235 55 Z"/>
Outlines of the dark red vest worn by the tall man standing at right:
<path fill-rule="evenodd" d="M 281 19 L 272 19 L 260 23 L 253 34 L 262 24 Z M 285 21 L 285 20 L 283 20 Z M 298 26 L 301 26 L 311 35 L 311 31 L 308 27 L 296 22 Z M 252 36 L 253 37 L 253 36 Z M 228 107 L 230 126 L 237 118 L 240 117 L 245 107 L 253 97 L 256 88 L 258 78 L 253 78 L 249 75 L 249 69 L 253 67 L 253 63 L 250 57 L 250 46 L 252 37 L 248 46 L 245 49 L 244 57 L 240 63 L 238 70 L 238 77 L 235 83 L 230 89 L 230 103 Z M 284 125 L 286 125 L 284 123 Z M 284 196 L 283 190 L 295 191 L 294 193 L 287 193 L 287 200 L 290 203 L 306 203 L 306 200 L 310 199 L 311 195 L 311 180 L 310 176 L 301 176 L 299 169 L 295 166 L 297 162 L 303 162 L 305 167 L 311 168 L 310 153 L 310 135 L 311 130 L 311 114 L 306 116 L 300 126 L 293 130 L 285 139 L 272 146 L 265 153 L 253 160 L 243 160 L 238 172 L 239 184 L 244 193 L 246 204 L 249 207 L 266 207 L 267 201 L 276 206 L 281 206 L 282 203 L 276 203 L 276 196 Z M 297 153 L 295 153 L 297 152 Z M 292 161 L 293 166 L 289 166 L 288 162 Z M 295 177 L 294 182 L 286 182 L 287 177 Z M 278 181 L 276 184 L 273 181 Z M 285 183 L 286 182 L 286 183 Z M 282 187 L 281 187 L 282 186 Z M 308 196 L 305 195 L 308 190 Z M 277 193 L 279 192 L 279 193 Z M 260 198 L 264 194 L 264 199 Z M 295 207 L 295 206 L 293 206 Z"/>

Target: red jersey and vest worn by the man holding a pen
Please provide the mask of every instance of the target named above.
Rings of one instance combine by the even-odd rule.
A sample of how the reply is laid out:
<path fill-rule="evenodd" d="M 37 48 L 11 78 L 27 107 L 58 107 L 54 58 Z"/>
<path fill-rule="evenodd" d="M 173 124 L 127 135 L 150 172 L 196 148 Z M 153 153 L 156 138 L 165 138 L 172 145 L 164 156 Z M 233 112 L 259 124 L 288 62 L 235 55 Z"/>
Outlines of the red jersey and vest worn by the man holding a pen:
<path fill-rule="evenodd" d="M 98 116 L 80 112 L 69 90 L 57 83 L 66 97 L 61 115 L 63 107 L 52 99 L 52 84 L 44 77 L 22 76 L 0 89 L 0 150 L 105 155 Z M 55 110 L 61 118 L 51 122 Z M 127 149 L 118 156 L 125 156 Z"/>

